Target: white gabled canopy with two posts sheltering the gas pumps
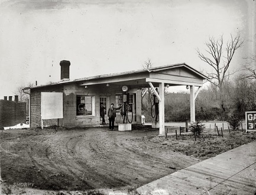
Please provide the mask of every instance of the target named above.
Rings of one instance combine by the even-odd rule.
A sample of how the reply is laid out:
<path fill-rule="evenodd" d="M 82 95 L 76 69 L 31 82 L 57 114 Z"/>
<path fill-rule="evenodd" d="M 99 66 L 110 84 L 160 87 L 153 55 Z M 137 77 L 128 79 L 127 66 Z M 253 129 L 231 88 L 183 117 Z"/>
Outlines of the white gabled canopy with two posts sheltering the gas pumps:
<path fill-rule="evenodd" d="M 196 71 L 189 65 L 173 64 L 163 67 L 151 68 L 150 70 L 138 70 L 107 74 L 95 77 L 80 78 L 74 80 L 79 85 L 127 85 L 129 88 L 152 88 L 159 100 L 159 134 L 164 135 L 164 87 L 187 85 L 190 88 L 190 121 L 195 121 L 195 99 L 203 85 L 203 80 L 208 77 Z M 73 81 L 73 82 L 74 82 Z M 71 81 L 69 81 L 71 82 Z M 158 92 L 155 90 L 158 87 Z M 197 87 L 197 90 L 195 89 Z"/>

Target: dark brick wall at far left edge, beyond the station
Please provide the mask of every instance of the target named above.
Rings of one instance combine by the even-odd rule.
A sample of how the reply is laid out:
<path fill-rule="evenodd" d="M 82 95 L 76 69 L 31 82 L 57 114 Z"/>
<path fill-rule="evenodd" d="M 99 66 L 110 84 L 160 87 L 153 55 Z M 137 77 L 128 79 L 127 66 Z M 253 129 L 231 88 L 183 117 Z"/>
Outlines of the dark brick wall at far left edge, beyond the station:
<path fill-rule="evenodd" d="M 0 128 L 26 123 L 26 103 L 0 100 Z"/>

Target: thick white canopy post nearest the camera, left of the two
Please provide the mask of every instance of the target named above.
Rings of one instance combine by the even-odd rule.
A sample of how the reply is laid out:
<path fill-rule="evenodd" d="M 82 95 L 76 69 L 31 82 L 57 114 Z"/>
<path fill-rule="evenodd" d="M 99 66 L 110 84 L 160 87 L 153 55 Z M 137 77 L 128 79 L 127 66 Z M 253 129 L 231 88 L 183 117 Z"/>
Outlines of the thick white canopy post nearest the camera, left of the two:
<path fill-rule="evenodd" d="M 159 135 L 164 135 L 164 83 L 159 83 Z"/>

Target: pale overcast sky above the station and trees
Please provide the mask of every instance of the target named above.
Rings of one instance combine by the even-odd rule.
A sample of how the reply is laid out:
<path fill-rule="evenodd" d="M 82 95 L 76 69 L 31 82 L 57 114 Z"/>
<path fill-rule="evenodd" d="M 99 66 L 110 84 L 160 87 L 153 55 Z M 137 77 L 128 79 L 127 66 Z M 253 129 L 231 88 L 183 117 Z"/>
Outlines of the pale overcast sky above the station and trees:
<path fill-rule="evenodd" d="M 232 67 L 255 52 L 253 0 L 0 2 L 0 99 L 18 85 L 59 81 L 61 60 L 71 79 L 139 70 L 148 58 L 209 70 L 195 49 L 231 33 L 245 39 Z"/>

